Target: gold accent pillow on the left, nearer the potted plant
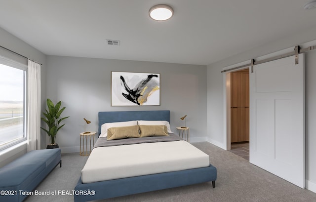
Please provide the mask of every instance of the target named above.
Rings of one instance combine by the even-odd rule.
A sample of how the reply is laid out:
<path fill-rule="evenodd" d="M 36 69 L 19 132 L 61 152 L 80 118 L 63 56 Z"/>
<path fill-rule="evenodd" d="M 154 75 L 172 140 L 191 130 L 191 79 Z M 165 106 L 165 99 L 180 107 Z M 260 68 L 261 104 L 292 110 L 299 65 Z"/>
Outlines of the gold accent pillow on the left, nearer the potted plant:
<path fill-rule="evenodd" d="M 108 129 L 107 140 L 118 140 L 134 137 L 140 137 L 138 125 L 111 127 Z"/>

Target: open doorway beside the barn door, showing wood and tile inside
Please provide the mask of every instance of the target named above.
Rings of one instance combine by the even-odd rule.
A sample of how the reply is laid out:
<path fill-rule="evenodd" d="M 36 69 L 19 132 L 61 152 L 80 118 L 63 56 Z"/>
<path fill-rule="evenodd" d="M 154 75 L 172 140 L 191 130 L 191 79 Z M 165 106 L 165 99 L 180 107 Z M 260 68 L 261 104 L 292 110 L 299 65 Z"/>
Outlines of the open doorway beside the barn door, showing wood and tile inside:
<path fill-rule="evenodd" d="M 230 72 L 226 79 L 227 149 L 249 161 L 249 68 Z"/>

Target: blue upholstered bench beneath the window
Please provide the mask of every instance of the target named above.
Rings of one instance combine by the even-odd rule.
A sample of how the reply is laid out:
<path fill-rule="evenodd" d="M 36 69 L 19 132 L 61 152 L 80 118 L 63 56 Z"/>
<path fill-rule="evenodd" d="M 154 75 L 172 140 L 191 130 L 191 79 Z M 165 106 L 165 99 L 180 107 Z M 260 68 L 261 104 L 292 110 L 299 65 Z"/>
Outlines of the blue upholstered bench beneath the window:
<path fill-rule="evenodd" d="M 46 149 L 4 165 L 0 168 L 0 202 L 22 202 L 58 164 L 61 167 L 60 149 Z"/>

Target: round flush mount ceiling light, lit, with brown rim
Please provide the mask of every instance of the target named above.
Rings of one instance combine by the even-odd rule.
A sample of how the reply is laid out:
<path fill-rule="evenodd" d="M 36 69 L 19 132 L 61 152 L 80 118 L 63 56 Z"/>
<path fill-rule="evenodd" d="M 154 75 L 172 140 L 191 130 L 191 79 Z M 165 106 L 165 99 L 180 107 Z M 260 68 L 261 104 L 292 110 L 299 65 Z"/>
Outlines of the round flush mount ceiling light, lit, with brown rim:
<path fill-rule="evenodd" d="M 166 4 L 154 5 L 149 9 L 149 16 L 158 21 L 168 20 L 173 16 L 173 9 Z"/>

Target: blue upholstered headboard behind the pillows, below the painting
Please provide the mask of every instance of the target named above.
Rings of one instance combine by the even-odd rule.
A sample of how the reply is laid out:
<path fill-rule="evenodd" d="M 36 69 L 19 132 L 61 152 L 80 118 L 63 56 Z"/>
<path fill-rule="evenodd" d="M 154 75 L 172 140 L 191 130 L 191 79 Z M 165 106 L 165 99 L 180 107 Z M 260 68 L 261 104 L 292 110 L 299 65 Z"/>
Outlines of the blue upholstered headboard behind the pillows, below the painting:
<path fill-rule="evenodd" d="M 121 112 L 99 112 L 99 134 L 101 134 L 101 125 L 103 123 L 121 122 L 121 121 L 169 121 L 170 111 L 121 111 Z"/>

